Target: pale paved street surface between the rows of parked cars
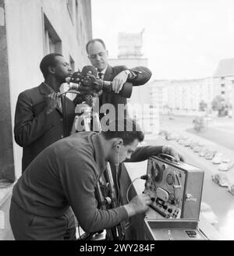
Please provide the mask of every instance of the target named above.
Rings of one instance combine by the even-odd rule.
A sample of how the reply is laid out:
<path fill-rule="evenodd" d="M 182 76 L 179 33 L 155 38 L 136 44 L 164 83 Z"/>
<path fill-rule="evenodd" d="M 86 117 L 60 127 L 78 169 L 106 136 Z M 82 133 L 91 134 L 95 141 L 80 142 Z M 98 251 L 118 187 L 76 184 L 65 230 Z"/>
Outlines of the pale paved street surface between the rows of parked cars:
<path fill-rule="evenodd" d="M 174 119 L 168 119 L 168 116 L 162 116 L 160 120 L 161 130 L 175 131 L 176 133 L 183 134 L 193 141 L 206 145 L 207 148 L 214 148 L 222 152 L 226 157 L 234 161 L 234 151 L 225 148 L 217 142 L 214 143 L 211 140 L 200 137 L 198 133 L 189 133 L 186 131 L 193 127 L 193 117 L 185 118 L 175 116 Z M 215 125 L 217 126 L 217 123 L 215 123 Z M 227 136 L 226 134 L 227 133 L 224 131 L 222 136 L 225 137 Z M 220 137 L 220 140 L 222 140 L 222 137 Z M 215 224 L 216 229 L 222 233 L 222 236 L 224 236 L 226 240 L 234 240 L 234 196 L 227 191 L 226 187 L 219 187 L 218 184 L 211 180 L 212 174 L 220 172 L 218 171 L 218 166 L 213 164 L 211 160 L 200 157 L 197 153 L 194 153 L 190 147 L 185 147 L 176 140 L 165 140 L 164 136 L 148 135 L 145 141 L 147 144 L 172 144 L 183 154 L 187 163 L 204 169 L 202 201 L 209 204 L 213 212 L 215 212 L 215 215 L 218 216 L 218 224 Z M 230 143 L 234 144 L 234 140 L 230 140 Z M 234 168 L 226 173 L 229 176 L 229 180 L 234 183 Z"/>

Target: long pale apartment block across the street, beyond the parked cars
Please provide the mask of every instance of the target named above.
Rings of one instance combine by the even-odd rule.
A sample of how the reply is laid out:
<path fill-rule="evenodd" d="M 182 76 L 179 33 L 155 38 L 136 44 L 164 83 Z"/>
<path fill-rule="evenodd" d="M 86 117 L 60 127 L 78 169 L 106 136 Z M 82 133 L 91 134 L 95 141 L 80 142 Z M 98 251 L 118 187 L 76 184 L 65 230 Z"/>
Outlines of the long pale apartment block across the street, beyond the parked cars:
<path fill-rule="evenodd" d="M 212 77 L 191 80 L 154 80 L 150 87 L 151 102 L 158 101 L 160 112 L 197 114 L 200 101 L 211 106 L 214 98 Z"/>

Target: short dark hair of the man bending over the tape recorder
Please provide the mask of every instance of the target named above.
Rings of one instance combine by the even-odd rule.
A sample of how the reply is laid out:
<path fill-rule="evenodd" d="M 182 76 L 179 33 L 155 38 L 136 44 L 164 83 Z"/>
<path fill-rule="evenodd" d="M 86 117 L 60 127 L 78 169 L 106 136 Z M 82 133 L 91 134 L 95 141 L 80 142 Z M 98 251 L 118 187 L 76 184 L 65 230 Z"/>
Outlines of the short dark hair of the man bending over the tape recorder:
<path fill-rule="evenodd" d="M 103 129 L 104 130 L 104 129 Z M 115 137 L 120 137 L 124 145 L 133 143 L 135 139 L 139 142 L 144 140 L 144 133 L 140 126 L 129 118 L 116 119 L 108 124 L 108 130 L 102 131 L 106 140 L 111 140 Z"/>

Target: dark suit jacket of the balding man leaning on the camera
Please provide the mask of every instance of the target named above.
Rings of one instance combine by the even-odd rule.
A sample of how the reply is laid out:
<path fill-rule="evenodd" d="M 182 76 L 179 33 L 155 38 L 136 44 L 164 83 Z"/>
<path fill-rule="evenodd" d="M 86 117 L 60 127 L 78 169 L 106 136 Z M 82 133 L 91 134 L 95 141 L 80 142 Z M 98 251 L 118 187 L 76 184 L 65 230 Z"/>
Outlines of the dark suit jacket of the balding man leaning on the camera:
<path fill-rule="evenodd" d="M 117 76 L 123 70 L 127 70 L 126 66 L 109 66 L 108 65 L 108 68 L 106 69 L 103 80 L 112 81 L 115 78 L 115 76 Z M 146 84 L 147 81 L 150 80 L 151 78 L 150 69 L 147 69 L 144 66 L 137 66 L 136 68 L 128 69 L 128 70 L 132 70 L 134 73 L 137 73 L 137 76 L 135 78 L 131 80 L 130 79 L 127 80 L 127 82 L 132 83 L 133 86 L 140 86 L 140 85 Z M 119 94 L 115 94 L 114 92 L 107 93 L 105 91 L 101 94 L 101 97 L 99 99 L 100 99 L 100 107 L 101 105 L 106 103 L 110 103 L 114 105 L 116 114 L 118 111 L 118 105 L 119 104 L 126 105 L 126 102 L 127 102 L 125 97 L 122 97 Z"/>

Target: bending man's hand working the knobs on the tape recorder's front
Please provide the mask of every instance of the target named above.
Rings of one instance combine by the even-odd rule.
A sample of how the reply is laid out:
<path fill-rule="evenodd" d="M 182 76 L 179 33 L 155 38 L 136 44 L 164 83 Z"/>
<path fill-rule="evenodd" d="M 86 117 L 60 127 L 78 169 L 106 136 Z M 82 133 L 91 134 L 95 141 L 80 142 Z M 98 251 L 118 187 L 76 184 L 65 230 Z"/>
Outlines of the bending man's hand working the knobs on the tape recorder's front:
<path fill-rule="evenodd" d="M 124 205 L 126 211 L 128 212 L 129 217 L 144 213 L 149 208 L 153 201 L 151 197 L 147 194 L 139 194 L 129 202 L 129 204 Z"/>

